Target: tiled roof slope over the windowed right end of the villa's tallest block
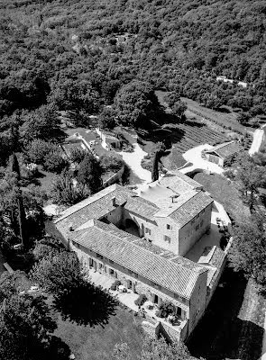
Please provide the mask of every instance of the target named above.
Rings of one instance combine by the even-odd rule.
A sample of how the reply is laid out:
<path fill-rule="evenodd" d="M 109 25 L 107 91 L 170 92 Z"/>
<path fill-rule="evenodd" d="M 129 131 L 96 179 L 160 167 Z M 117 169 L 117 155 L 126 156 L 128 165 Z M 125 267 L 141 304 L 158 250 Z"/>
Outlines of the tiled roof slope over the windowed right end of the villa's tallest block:
<path fill-rule="evenodd" d="M 196 193 L 187 202 L 183 203 L 179 209 L 170 214 L 170 218 L 178 222 L 179 228 L 182 228 L 188 221 L 195 218 L 195 216 L 206 208 L 207 205 L 213 202 L 213 199 L 203 191 Z"/>

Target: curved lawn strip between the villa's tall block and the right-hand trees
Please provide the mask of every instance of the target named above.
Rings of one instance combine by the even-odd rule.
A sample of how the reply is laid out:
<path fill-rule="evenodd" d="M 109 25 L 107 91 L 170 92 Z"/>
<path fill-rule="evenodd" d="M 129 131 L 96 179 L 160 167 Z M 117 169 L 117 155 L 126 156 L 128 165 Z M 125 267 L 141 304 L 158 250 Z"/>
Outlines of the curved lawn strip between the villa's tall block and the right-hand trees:
<path fill-rule="evenodd" d="M 203 173 L 195 175 L 194 180 L 199 184 L 203 184 L 205 190 L 211 193 L 217 202 L 224 205 L 225 211 L 235 221 L 242 222 L 243 218 L 250 214 L 248 207 L 243 205 L 234 182 L 227 180 L 222 175 L 206 175 Z"/>

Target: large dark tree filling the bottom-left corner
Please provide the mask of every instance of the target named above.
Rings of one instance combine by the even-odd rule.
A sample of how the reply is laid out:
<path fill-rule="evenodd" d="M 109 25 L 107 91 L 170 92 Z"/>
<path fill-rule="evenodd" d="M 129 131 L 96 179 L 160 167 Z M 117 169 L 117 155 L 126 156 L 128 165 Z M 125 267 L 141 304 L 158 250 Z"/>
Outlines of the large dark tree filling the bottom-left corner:
<path fill-rule="evenodd" d="M 13 295 L 2 303 L 0 312 L 0 357 L 36 359 L 57 328 L 41 296 Z"/>

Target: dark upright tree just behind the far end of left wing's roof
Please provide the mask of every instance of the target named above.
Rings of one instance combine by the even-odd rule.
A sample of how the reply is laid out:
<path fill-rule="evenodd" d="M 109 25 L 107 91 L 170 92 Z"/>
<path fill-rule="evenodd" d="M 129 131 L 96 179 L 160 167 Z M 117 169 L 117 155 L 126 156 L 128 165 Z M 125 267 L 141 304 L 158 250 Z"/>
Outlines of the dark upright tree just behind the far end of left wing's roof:
<path fill-rule="evenodd" d="M 91 154 L 87 154 L 78 169 L 78 183 L 87 185 L 91 193 L 96 193 L 103 184 L 101 175 L 99 162 Z"/>

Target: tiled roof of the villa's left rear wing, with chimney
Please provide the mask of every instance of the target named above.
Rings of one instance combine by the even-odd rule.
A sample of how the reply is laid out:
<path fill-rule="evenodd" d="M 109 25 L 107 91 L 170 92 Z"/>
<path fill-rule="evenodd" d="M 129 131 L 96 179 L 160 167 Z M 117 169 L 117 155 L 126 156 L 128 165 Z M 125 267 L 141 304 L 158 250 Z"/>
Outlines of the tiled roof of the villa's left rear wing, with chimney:
<path fill-rule="evenodd" d="M 78 202 L 69 209 L 60 213 L 60 218 L 54 220 L 57 229 L 67 238 L 69 227 L 78 229 L 81 225 L 90 219 L 99 219 L 109 211 L 116 208 L 113 205 L 112 198 L 115 197 L 115 205 L 122 205 L 132 196 L 132 192 L 124 186 L 114 184 L 106 187 L 104 190 L 88 197 L 83 202 Z"/>

